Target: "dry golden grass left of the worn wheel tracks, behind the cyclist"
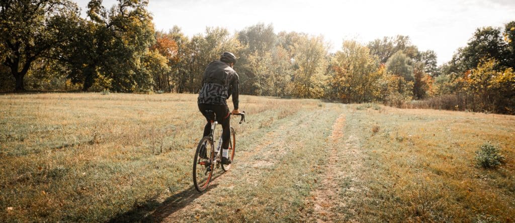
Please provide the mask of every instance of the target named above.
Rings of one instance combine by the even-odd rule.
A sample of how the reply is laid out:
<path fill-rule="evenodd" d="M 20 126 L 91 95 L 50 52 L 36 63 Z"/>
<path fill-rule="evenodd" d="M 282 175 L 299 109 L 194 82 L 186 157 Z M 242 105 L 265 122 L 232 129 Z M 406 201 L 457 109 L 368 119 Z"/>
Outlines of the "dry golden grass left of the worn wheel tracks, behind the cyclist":
<path fill-rule="evenodd" d="M 11 94 L 0 105 L 1 219 L 106 221 L 191 185 L 205 124 L 196 95 Z M 238 137 L 285 105 L 301 107 L 242 95 L 251 118 Z"/>

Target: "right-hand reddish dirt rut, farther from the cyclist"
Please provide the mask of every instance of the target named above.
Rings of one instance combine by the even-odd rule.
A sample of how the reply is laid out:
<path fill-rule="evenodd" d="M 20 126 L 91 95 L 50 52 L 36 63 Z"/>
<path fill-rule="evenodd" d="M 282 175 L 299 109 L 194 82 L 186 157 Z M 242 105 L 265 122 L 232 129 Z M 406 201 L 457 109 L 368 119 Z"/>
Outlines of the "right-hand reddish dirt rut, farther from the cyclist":
<path fill-rule="evenodd" d="M 363 198 L 363 154 L 353 129 L 342 113 L 329 137 L 327 163 L 322 167 L 319 187 L 306 198 L 306 221 L 359 221 L 355 200 Z"/>

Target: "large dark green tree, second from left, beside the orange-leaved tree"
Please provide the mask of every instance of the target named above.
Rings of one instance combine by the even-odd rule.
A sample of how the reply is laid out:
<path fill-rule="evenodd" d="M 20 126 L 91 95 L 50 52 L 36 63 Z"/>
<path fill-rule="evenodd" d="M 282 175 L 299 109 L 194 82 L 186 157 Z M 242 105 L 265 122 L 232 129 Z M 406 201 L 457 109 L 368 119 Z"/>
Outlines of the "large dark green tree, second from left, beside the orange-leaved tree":
<path fill-rule="evenodd" d="M 73 71 L 72 83 L 87 91 L 96 80 L 107 79 L 104 86 L 114 91 L 148 91 L 141 58 L 155 41 L 147 2 L 119 2 L 109 11 L 101 0 L 91 0 L 88 17 L 76 30 L 77 40 L 65 49 L 63 60 Z M 142 81 L 140 83 L 140 81 Z"/>

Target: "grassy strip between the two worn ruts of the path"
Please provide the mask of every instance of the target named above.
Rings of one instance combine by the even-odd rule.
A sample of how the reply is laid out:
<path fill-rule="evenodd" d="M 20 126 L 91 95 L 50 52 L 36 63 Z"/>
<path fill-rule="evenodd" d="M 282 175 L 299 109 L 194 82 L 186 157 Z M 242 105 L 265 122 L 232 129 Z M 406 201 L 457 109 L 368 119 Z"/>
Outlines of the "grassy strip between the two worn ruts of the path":
<path fill-rule="evenodd" d="M 257 154 L 256 158 L 262 159 L 250 157 L 247 167 L 231 172 L 234 177 L 229 188 L 216 188 L 221 189 L 216 193 L 218 207 L 204 206 L 193 211 L 195 215 L 181 217 L 184 221 L 194 221 L 197 217 L 205 221 L 298 221 L 313 182 L 313 173 L 306 167 L 316 165 L 317 157 L 325 153 L 313 149 L 327 143 L 336 117 L 337 113 L 329 109 L 298 117 L 295 126 L 289 129 L 291 133 L 284 132 L 276 138 L 276 143 Z M 262 160 L 266 160 L 266 165 L 255 167 Z"/>

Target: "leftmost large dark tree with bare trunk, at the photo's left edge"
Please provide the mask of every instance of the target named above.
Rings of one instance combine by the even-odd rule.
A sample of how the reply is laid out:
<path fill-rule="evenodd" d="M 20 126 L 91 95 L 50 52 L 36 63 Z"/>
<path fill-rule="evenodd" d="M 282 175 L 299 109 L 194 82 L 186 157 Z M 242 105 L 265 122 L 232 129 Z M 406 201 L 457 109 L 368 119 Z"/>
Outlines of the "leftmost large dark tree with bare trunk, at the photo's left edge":
<path fill-rule="evenodd" d="M 79 20 L 77 5 L 67 0 L 7 0 L 0 2 L 2 63 L 15 78 L 15 91 L 25 90 L 32 63 L 70 42 Z"/>

